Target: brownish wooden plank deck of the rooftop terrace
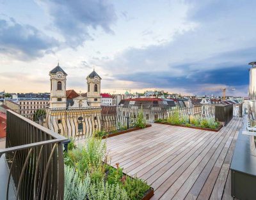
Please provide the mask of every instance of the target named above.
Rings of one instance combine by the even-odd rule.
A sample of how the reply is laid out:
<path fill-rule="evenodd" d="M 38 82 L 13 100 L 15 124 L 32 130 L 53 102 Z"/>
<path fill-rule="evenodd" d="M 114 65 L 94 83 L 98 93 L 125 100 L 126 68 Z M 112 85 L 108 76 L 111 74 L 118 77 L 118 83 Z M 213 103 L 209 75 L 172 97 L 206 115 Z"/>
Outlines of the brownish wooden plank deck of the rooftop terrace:
<path fill-rule="evenodd" d="M 152 199 L 233 199 L 230 171 L 242 119 L 219 132 L 163 124 L 107 139 L 111 164 L 154 188 Z"/>

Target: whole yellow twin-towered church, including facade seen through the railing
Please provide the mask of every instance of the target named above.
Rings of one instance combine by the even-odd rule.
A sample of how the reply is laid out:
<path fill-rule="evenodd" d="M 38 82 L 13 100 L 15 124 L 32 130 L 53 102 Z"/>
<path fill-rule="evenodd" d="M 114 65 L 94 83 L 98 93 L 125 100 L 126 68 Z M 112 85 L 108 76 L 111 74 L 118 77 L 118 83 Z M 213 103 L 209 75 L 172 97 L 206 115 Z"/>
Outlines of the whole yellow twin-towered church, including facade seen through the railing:
<path fill-rule="evenodd" d="M 68 138 L 86 138 L 100 131 L 100 76 L 93 69 L 86 77 L 86 95 L 66 90 L 67 73 L 59 66 L 49 72 L 51 96 L 49 110 L 40 122 Z"/>

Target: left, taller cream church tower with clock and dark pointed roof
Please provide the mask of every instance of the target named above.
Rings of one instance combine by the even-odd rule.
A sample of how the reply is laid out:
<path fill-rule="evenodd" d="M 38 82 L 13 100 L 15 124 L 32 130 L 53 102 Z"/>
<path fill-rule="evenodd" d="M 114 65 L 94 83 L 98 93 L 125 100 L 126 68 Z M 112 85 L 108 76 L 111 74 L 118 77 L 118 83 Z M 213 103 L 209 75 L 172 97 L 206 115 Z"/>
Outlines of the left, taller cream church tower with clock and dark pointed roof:
<path fill-rule="evenodd" d="M 50 108 L 67 108 L 67 73 L 58 64 L 56 68 L 49 72 L 49 76 L 51 77 Z"/>

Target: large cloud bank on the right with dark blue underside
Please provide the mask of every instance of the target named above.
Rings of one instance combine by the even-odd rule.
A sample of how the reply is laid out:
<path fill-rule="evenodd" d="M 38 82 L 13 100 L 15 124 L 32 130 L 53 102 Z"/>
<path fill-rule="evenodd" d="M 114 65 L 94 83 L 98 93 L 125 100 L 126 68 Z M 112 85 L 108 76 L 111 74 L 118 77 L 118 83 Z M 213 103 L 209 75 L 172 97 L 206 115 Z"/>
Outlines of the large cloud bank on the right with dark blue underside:
<path fill-rule="evenodd" d="M 200 92 L 202 85 L 233 85 L 246 94 L 247 63 L 254 61 L 256 51 L 256 2 L 185 2 L 186 20 L 197 24 L 195 29 L 177 32 L 161 45 L 129 48 L 97 64 L 111 69 L 118 80 L 141 82 L 141 88 Z"/>

